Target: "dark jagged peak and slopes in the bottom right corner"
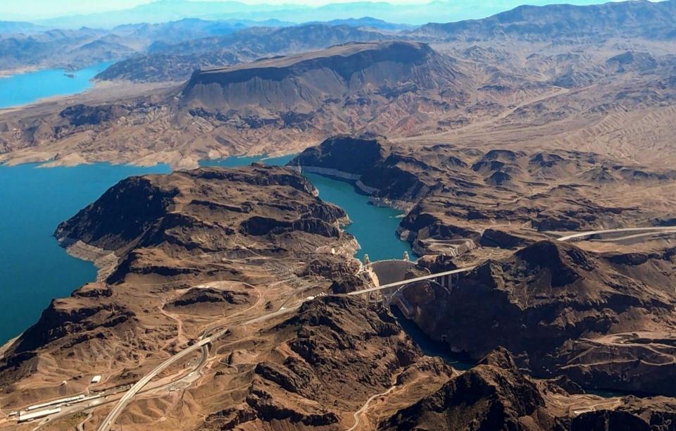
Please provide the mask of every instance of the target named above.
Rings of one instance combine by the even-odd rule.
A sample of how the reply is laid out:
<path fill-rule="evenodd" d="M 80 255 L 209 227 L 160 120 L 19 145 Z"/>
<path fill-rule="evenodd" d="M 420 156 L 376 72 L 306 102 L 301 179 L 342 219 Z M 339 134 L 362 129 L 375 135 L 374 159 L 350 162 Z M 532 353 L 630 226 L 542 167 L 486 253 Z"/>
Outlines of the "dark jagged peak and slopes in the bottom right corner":
<path fill-rule="evenodd" d="M 664 430 L 671 426 L 674 408 L 673 399 L 603 399 L 584 394 L 565 379 L 532 379 L 500 347 L 433 394 L 399 409 L 378 429 Z"/>

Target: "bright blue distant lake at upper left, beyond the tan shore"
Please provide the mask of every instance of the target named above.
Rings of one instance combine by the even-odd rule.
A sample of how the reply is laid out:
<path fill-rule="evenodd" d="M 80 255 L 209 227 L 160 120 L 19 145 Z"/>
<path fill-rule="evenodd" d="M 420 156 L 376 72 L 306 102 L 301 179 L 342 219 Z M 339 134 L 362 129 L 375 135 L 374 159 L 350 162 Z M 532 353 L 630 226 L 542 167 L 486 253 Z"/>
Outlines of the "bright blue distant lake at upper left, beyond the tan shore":
<path fill-rule="evenodd" d="M 30 104 L 51 96 L 76 94 L 92 87 L 90 81 L 111 63 L 99 63 L 88 68 L 67 72 L 44 69 L 0 78 L 0 108 Z M 65 76 L 65 73 L 75 75 Z"/>

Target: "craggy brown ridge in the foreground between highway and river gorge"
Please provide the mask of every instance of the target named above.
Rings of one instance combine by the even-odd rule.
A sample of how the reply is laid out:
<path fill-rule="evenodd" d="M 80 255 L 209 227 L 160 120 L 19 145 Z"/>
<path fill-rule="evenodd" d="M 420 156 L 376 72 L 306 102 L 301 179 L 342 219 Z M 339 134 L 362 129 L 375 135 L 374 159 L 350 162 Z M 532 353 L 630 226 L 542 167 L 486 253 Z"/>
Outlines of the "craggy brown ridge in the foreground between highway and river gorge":
<path fill-rule="evenodd" d="M 351 422 L 344 412 L 355 411 L 358 400 L 396 386 L 398 376 L 425 362 L 387 311 L 345 296 L 303 304 L 261 337 L 275 340 L 276 354 L 253 368 L 242 404 L 208 416 L 201 427 L 343 429 Z M 427 373 L 451 374 L 440 360 L 432 364 Z"/>

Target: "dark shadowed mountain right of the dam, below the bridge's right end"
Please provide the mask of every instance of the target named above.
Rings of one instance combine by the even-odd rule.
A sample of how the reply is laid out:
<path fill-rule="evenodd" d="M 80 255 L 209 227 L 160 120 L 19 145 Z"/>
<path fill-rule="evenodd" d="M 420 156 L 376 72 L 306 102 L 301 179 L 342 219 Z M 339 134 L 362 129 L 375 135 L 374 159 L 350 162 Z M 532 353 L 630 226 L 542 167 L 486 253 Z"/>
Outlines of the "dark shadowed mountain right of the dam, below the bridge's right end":
<path fill-rule="evenodd" d="M 427 334 L 474 357 L 503 345 L 536 375 L 673 395 L 657 376 L 675 372 L 675 269 L 673 250 L 593 254 L 544 241 L 481 264 L 450 292 L 404 295 Z"/>

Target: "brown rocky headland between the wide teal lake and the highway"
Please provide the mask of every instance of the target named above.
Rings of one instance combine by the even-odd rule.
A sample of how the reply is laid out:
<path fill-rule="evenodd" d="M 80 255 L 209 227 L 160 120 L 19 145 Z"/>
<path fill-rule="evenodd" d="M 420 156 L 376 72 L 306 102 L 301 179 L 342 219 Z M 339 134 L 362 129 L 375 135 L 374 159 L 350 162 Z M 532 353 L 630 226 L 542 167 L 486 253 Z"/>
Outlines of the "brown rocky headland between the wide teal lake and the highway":
<path fill-rule="evenodd" d="M 52 301 L 5 352 L 9 402 L 84 390 L 82 374 L 101 361 L 111 364 L 111 384 L 134 381 L 215 320 L 246 309 L 256 316 L 268 302 L 279 308 L 277 295 L 294 299 L 291 285 L 309 296 L 352 277 L 356 244 L 339 229 L 346 215 L 315 194 L 301 175 L 266 165 L 130 177 L 108 189 L 55 235 L 63 246 L 113 251 L 111 275 Z M 36 375 L 40 390 L 23 380 Z M 71 383 L 58 389 L 62 380 Z"/>

